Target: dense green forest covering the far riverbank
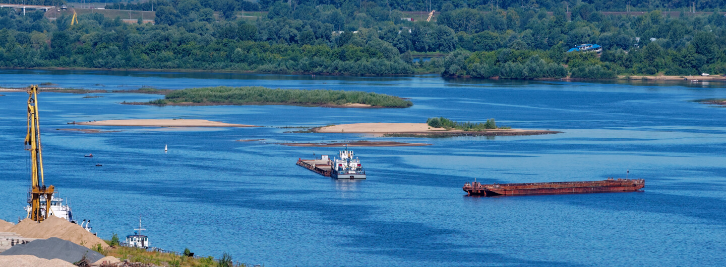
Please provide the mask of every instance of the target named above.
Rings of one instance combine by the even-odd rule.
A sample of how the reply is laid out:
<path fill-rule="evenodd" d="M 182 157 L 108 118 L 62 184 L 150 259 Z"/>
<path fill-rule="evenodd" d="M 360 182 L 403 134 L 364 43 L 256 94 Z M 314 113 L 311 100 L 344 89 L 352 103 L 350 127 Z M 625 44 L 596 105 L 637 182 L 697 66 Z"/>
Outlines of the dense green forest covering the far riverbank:
<path fill-rule="evenodd" d="M 603 14 L 627 3 L 150 0 L 107 9 L 153 10 L 154 24 L 91 13 L 77 25 L 0 8 L 0 67 L 503 79 L 726 72 L 726 3 L 697 3 L 707 12 L 693 14 L 682 1 L 633 1 L 648 12 Z M 431 22 L 404 13 L 431 9 L 441 12 Z M 253 11 L 264 12 L 245 15 Z M 603 51 L 566 52 L 583 43 Z"/>

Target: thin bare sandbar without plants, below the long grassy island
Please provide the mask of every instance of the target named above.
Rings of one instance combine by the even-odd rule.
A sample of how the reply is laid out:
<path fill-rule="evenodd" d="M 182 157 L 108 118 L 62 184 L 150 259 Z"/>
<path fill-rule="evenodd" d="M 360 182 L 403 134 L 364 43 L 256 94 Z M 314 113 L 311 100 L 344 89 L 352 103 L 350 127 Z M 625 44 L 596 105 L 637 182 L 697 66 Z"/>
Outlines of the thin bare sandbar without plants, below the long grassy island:
<path fill-rule="evenodd" d="M 113 119 L 94 122 L 69 122 L 69 124 L 97 126 L 146 126 L 146 127 L 258 127 L 248 124 L 212 122 L 206 119 Z"/>

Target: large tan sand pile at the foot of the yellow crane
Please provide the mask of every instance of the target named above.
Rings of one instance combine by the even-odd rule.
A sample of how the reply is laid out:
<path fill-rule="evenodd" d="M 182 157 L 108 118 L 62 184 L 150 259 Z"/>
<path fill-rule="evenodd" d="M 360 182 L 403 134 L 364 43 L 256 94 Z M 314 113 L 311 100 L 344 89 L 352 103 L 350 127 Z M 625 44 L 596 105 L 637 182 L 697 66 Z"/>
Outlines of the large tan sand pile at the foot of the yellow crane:
<path fill-rule="evenodd" d="M 94 247 L 101 244 L 101 247 L 107 248 L 106 242 L 83 229 L 78 224 L 73 224 L 65 219 L 56 216 L 49 216 L 48 219 L 38 224 L 36 221 L 25 219 L 19 224 L 7 229 L 7 232 L 15 232 L 28 238 L 50 238 L 58 237 L 62 240 L 68 240 L 78 245 L 83 243 L 86 247 Z"/>

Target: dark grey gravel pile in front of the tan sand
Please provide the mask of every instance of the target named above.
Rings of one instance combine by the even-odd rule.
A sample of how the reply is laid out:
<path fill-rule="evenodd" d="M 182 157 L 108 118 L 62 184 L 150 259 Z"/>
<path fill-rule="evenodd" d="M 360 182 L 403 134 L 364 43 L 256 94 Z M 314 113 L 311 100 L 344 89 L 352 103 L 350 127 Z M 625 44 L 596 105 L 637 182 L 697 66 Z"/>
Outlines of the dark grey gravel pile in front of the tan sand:
<path fill-rule="evenodd" d="M 4 253 L 0 253 L 0 255 L 33 255 L 46 259 L 57 258 L 69 263 L 81 260 L 83 255 L 86 255 L 91 263 L 103 258 L 101 253 L 56 237 L 47 240 L 34 240 L 25 245 L 15 245 L 10 247 L 9 250 L 5 250 Z"/>

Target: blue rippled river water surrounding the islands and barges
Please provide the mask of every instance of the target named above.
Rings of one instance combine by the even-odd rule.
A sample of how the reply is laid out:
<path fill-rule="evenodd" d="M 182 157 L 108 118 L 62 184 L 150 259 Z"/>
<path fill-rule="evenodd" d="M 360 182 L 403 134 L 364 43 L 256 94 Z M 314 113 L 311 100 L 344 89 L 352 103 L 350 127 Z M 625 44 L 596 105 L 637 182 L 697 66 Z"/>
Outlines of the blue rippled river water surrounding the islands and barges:
<path fill-rule="evenodd" d="M 722 266 L 726 263 L 725 85 L 309 77 L 156 72 L 0 71 L 0 87 L 54 82 L 105 90 L 262 85 L 366 90 L 409 109 L 129 106 L 158 96 L 41 93 L 46 182 L 100 237 L 142 216 L 155 247 L 228 252 L 265 266 Z M 0 218 L 24 216 L 26 93 L 0 96 Z M 392 138 L 285 133 L 287 126 L 424 122 L 430 116 L 563 133 Z M 66 122 L 196 118 L 261 128 L 86 127 Z M 80 127 L 80 126 L 76 126 Z M 264 139 L 261 142 L 234 142 Z M 295 166 L 337 148 L 282 142 L 398 140 L 355 148 L 369 177 L 335 181 Z M 168 145 L 168 153 L 163 152 Z M 94 158 L 83 158 L 93 153 Z M 100 163 L 102 167 L 94 165 Z M 471 198 L 464 182 L 643 178 L 640 192 Z"/>

